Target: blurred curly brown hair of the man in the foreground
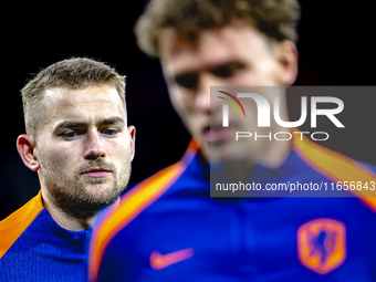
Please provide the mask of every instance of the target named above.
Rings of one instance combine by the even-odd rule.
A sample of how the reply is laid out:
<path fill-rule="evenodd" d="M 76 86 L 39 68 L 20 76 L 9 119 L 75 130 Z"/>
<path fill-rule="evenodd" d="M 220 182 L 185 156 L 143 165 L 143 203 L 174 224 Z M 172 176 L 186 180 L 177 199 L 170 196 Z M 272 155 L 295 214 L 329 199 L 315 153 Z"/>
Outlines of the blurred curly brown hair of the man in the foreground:
<path fill-rule="evenodd" d="M 297 0 L 152 0 L 136 23 L 140 49 L 158 56 L 158 36 L 173 28 L 176 34 L 195 43 L 203 29 L 222 28 L 241 20 L 276 41 L 296 42 L 300 19 Z"/>

